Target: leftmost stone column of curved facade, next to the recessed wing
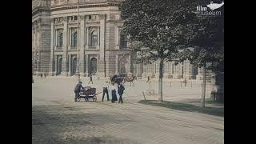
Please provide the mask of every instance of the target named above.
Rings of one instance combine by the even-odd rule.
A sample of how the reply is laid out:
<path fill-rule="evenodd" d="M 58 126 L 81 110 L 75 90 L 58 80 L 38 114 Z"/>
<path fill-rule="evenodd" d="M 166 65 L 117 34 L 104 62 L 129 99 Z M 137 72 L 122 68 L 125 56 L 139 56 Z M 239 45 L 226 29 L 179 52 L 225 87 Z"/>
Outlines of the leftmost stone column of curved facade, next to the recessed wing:
<path fill-rule="evenodd" d="M 54 75 L 54 38 L 54 18 L 50 18 L 50 76 Z"/>

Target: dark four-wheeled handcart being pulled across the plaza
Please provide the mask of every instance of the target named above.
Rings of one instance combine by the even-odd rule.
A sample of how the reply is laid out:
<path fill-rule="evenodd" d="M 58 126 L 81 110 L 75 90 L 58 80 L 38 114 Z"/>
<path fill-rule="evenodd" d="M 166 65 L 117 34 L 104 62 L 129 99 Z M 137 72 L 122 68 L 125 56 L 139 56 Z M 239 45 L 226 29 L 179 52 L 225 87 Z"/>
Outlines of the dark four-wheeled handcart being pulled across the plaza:
<path fill-rule="evenodd" d="M 90 99 L 92 99 L 93 102 L 97 101 L 96 88 L 86 87 L 84 90 L 80 91 L 79 95 L 80 96 L 78 97 L 78 102 L 81 100 L 81 98 L 85 98 L 85 102 L 89 102 Z"/>

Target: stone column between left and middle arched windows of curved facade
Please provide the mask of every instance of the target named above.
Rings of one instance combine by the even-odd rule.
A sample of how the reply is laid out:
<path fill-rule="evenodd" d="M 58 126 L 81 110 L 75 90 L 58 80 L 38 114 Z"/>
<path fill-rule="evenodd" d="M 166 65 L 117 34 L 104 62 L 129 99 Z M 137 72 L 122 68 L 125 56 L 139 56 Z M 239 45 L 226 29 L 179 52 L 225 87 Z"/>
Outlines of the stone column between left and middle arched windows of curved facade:
<path fill-rule="evenodd" d="M 64 29 L 63 29 L 63 55 L 62 55 L 62 75 L 67 76 L 67 49 L 68 49 L 68 27 L 67 27 L 67 17 L 64 17 Z"/>

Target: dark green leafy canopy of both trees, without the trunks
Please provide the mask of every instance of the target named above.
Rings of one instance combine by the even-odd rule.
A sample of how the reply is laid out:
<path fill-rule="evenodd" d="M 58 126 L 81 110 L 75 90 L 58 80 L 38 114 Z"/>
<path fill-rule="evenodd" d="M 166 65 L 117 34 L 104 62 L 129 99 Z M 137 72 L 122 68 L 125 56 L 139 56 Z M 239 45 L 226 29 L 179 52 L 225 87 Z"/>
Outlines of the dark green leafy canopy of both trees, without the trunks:
<path fill-rule="evenodd" d="M 167 58 L 181 62 L 188 58 L 191 63 L 214 70 L 224 64 L 224 11 L 220 16 L 196 15 L 197 6 L 206 6 L 203 0 L 126 0 L 120 5 L 124 30 L 130 34 L 131 46 L 147 47 L 143 61 Z M 193 47 L 193 50 L 187 49 Z"/>

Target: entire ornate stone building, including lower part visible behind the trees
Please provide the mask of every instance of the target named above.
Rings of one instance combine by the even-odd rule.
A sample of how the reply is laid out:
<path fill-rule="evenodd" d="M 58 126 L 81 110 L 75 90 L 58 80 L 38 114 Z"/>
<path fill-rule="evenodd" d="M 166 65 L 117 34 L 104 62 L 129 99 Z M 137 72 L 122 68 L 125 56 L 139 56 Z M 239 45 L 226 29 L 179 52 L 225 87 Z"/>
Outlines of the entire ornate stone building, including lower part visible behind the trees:
<path fill-rule="evenodd" d="M 158 63 L 135 64 L 118 3 L 122 0 L 32 1 L 34 70 L 50 75 L 158 77 Z M 48 66 L 48 67 L 47 67 Z M 77 67 L 78 66 L 78 67 Z M 164 63 L 165 78 L 202 78 L 190 62 Z"/>

